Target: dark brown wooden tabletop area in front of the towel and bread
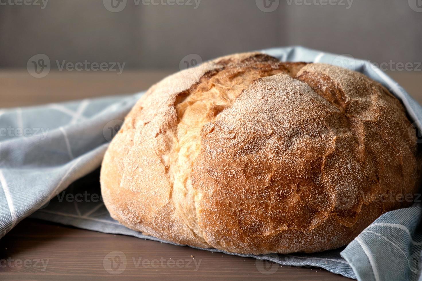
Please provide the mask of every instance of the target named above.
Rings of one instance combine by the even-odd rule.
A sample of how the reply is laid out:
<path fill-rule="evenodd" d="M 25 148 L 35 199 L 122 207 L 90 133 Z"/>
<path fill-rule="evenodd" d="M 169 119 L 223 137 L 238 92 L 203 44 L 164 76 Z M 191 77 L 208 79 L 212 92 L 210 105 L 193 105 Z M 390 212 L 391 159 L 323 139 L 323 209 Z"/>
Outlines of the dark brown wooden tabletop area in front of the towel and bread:
<path fill-rule="evenodd" d="M 126 257 L 126 268 L 117 275 L 108 273 L 106 269 L 110 271 L 110 268 L 107 265 L 105 268 L 103 262 L 113 251 L 121 251 Z M 35 219 L 24 219 L 0 240 L 0 261 L 2 259 L 6 262 L 13 259 L 10 262 L 13 267 L 9 262 L 4 267 L 6 262 L 0 262 L 1 280 L 348 279 L 316 267 L 281 266 L 253 258 L 81 230 Z M 27 261 L 31 266 L 18 267 L 19 264 L 15 264 L 18 260 Z M 39 267 L 35 266 L 36 260 L 41 260 L 36 265 Z M 42 261 L 47 265 L 45 270 Z M 258 270 L 265 266 L 269 267 L 268 272 L 275 272 L 266 275 Z"/>

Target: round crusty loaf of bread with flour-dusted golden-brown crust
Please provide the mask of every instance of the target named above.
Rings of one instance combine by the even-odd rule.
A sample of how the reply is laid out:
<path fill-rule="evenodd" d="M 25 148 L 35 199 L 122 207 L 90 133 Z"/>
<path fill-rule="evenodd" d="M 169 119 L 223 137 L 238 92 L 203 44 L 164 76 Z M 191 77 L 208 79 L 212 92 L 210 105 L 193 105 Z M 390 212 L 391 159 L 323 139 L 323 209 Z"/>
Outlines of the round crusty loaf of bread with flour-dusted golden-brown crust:
<path fill-rule="evenodd" d="M 114 219 L 163 240 L 316 252 L 410 205 L 391 195 L 417 192 L 419 152 L 403 105 L 363 74 L 235 54 L 152 86 L 112 140 L 101 187 Z"/>

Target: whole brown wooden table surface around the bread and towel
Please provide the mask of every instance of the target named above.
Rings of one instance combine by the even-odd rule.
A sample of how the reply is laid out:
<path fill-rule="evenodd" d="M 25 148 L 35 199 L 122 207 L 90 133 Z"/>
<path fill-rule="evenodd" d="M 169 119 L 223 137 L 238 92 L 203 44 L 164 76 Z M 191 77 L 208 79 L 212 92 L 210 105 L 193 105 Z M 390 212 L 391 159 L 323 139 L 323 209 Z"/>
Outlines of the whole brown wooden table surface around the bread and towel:
<path fill-rule="evenodd" d="M 26 70 L 0 70 L 0 107 L 139 92 L 172 72 L 125 70 L 121 75 L 116 75 L 107 72 L 57 71 L 50 72 L 44 78 L 34 78 Z M 422 103 L 422 73 L 396 71 L 388 74 Z M 131 236 L 81 230 L 35 219 L 24 219 L 0 240 L 0 280 L 113 278 L 348 279 L 315 267 L 281 266 L 252 258 L 200 251 Z"/>

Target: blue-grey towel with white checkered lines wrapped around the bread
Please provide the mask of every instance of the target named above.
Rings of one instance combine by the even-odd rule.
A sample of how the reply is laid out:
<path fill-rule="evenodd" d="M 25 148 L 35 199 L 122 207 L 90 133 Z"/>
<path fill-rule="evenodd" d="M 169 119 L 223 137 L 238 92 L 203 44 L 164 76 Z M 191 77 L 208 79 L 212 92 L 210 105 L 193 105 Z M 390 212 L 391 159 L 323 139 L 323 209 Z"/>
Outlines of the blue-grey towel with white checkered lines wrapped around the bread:
<path fill-rule="evenodd" d="M 303 47 L 264 52 L 282 61 L 325 62 L 360 71 L 390 89 L 422 130 L 421 106 L 367 61 Z M 159 240 L 111 219 L 99 198 L 97 176 L 94 184 L 72 184 L 97 170 L 109 141 L 142 94 L 0 110 L 0 237 L 32 216 L 89 230 Z M 282 265 L 322 267 L 365 281 L 422 281 L 422 206 L 418 201 L 409 208 L 385 213 L 341 249 L 315 254 L 240 256 Z"/>

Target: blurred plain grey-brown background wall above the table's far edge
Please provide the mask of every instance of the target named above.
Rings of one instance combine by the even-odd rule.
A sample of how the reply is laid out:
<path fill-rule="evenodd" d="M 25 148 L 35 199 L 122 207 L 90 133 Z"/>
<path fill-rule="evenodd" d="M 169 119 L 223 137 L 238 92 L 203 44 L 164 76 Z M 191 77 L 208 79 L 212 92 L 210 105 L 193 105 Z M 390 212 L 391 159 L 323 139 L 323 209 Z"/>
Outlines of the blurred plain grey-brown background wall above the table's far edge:
<path fill-rule="evenodd" d="M 176 69 L 188 54 L 205 60 L 286 45 L 373 62 L 422 59 L 420 0 L 330 0 L 337 5 L 265 0 L 267 7 L 279 2 L 272 12 L 258 8 L 264 0 L 201 0 L 199 5 L 195 0 L 189 0 L 192 5 L 187 0 L 185 5 L 50 0 L 45 6 L 46 0 L 16 5 L 19 1 L 0 0 L 1 68 L 25 68 L 41 53 L 69 62 L 126 62 L 127 69 Z M 109 11 L 111 1 L 124 9 Z"/>

